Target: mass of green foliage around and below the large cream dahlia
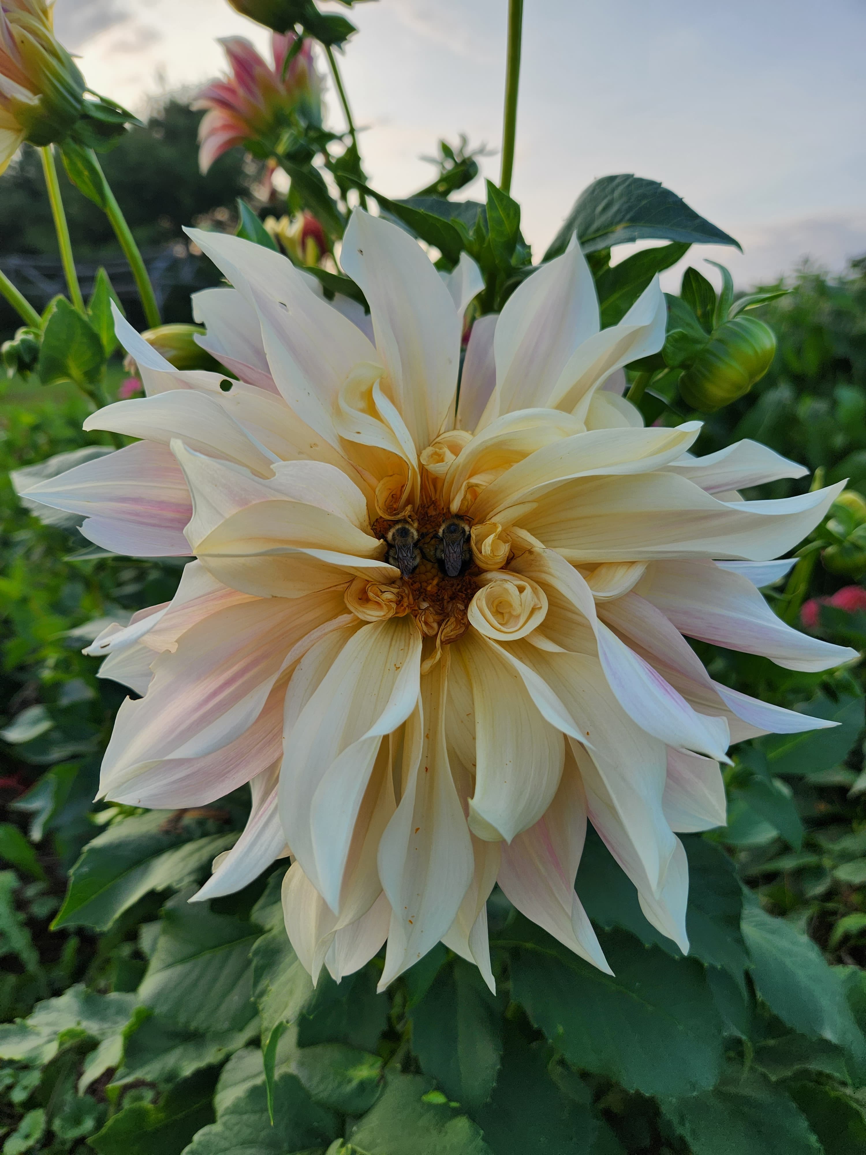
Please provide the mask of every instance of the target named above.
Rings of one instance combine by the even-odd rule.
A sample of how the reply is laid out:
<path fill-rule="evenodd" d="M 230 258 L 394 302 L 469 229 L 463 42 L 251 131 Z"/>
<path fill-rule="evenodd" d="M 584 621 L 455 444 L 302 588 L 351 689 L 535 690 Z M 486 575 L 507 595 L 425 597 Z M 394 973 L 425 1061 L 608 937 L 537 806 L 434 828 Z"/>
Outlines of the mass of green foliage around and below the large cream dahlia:
<path fill-rule="evenodd" d="M 171 241 L 196 217 L 229 221 L 248 189 L 236 154 L 197 174 L 196 119 L 169 103 L 106 157 L 142 244 Z M 0 256 L 52 251 L 33 165 L 25 151 L 0 182 Z M 77 249 L 102 254 L 100 215 L 65 192 Z M 17 233 L 2 224 L 21 219 Z M 599 284 L 611 275 L 603 260 L 595 271 Z M 850 476 L 866 497 L 866 261 L 837 277 L 805 266 L 767 291 L 783 288 L 755 314 L 777 337 L 769 372 L 706 415 L 699 452 L 753 438 L 828 480 Z M 107 400 L 122 378 L 115 360 Z M 692 416 L 677 396 L 659 397 L 645 395 L 648 419 Z M 182 562 L 105 554 L 74 519 L 32 516 L 9 471 L 111 442 L 82 433 L 89 405 L 72 385 L 13 377 L 0 402 L 3 1155 L 866 1150 L 859 666 L 794 673 L 697 644 L 718 680 L 839 725 L 736 747 L 729 826 L 685 839 L 692 959 L 648 926 L 590 837 L 577 889 L 615 982 L 515 917 L 497 892 L 495 999 L 441 946 L 388 994 L 374 993 L 375 960 L 313 991 L 282 927 L 284 862 L 238 895 L 186 906 L 242 828 L 242 791 L 176 813 L 94 804 L 126 691 L 98 679 L 81 648 L 109 620 L 170 598 Z M 836 507 L 831 515 L 838 522 Z M 848 539 L 850 529 L 838 532 Z M 805 605 L 808 628 L 863 650 L 866 561 L 826 567 L 834 532 L 812 535 L 797 588 L 766 593 L 779 612 Z"/>

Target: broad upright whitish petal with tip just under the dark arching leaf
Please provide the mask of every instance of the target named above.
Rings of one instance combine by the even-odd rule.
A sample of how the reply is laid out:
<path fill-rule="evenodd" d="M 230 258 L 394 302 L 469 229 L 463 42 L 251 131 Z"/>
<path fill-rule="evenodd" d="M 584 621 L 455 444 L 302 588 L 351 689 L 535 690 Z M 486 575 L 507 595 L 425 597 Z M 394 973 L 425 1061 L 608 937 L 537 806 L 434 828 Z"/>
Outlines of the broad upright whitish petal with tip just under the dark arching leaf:
<path fill-rule="evenodd" d="M 598 297 L 576 239 L 508 298 L 494 337 L 499 412 L 550 407 L 575 350 L 598 333 Z"/>

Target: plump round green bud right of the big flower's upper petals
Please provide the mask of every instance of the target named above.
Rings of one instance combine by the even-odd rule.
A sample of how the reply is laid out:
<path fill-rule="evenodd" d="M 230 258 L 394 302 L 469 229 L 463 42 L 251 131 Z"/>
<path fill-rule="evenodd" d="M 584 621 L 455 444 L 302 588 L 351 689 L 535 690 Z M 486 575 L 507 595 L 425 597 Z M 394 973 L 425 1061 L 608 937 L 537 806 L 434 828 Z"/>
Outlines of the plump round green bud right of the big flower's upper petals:
<path fill-rule="evenodd" d="M 776 337 L 755 316 L 725 321 L 680 378 L 680 396 L 693 409 L 712 412 L 741 397 L 764 375 Z"/>

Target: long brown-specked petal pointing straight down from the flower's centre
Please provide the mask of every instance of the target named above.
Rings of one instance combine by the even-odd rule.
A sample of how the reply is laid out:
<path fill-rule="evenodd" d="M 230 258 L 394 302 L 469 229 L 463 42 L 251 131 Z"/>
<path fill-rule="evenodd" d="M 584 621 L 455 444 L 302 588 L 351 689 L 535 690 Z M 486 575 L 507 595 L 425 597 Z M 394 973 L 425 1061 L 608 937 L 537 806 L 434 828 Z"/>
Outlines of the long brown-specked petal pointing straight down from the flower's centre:
<path fill-rule="evenodd" d="M 391 906 L 380 990 L 448 932 L 473 878 L 472 843 L 446 751 L 448 665 L 446 648 L 421 680 L 406 723 L 403 796 L 379 845 L 379 877 Z"/>

